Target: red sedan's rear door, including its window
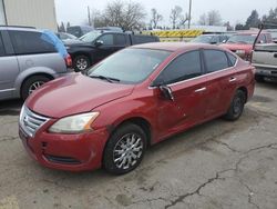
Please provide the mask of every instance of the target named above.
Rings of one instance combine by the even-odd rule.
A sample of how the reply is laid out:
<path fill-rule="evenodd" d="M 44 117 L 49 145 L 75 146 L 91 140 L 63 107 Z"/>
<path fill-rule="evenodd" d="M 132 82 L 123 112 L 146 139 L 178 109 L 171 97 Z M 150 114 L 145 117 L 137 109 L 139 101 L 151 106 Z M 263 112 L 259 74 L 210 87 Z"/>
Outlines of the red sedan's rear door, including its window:
<path fill-rule="evenodd" d="M 207 102 L 205 118 L 226 113 L 237 83 L 234 66 L 237 58 L 228 52 L 214 49 L 203 50 L 207 78 Z"/>

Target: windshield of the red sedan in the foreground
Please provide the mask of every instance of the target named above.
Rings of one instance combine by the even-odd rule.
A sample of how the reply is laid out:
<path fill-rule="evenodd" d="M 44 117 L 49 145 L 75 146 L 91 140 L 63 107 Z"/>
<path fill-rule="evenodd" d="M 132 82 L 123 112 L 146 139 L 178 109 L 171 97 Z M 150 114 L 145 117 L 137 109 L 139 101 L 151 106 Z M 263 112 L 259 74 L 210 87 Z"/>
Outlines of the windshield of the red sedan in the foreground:
<path fill-rule="evenodd" d="M 126 84 L 140 83 L 170 54 L 161 50 L 124 49 L 91 68 L 88 76 L 105 77 Z"/>

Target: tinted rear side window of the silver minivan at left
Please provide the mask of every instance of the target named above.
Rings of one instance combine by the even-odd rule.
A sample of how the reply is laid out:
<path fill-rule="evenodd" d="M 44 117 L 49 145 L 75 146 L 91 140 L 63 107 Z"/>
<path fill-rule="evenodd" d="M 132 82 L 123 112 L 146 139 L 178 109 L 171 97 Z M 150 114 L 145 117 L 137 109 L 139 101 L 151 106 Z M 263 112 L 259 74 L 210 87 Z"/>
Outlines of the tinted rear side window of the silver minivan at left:
<path fill-rule="evenodd" d="M 54 46 L 41 32 L 9 31 L 17 54 L 53 53 Z"/>

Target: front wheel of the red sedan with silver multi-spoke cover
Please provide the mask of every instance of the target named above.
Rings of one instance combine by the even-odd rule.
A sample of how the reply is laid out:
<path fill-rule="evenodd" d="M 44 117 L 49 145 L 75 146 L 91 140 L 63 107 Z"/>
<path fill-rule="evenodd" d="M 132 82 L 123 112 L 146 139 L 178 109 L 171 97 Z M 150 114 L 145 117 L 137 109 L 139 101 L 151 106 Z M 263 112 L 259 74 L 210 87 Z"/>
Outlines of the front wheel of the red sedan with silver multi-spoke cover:
<path fill-rule="evenodd" d="M 146 135 L 141 127 L 133 123 L 123 125 L 106 143 L 104 169 L 112 175 L 125 175 L 134 170 L 142 162 L 146 141 Z"/>

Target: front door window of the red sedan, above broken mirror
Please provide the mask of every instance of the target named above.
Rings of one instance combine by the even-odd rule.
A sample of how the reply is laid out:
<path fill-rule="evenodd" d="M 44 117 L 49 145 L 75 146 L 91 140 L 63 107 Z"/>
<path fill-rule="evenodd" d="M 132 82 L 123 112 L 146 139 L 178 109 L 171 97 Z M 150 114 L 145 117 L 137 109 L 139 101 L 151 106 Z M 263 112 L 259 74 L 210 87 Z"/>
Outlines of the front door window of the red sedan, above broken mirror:
<path fill-rule="evenodd" d="M 174 61 L 160 74 L 157 80 L 163 80 L 165 84 L 192 79 L 202 74 L 199 51 L 186 52 Z"/>

